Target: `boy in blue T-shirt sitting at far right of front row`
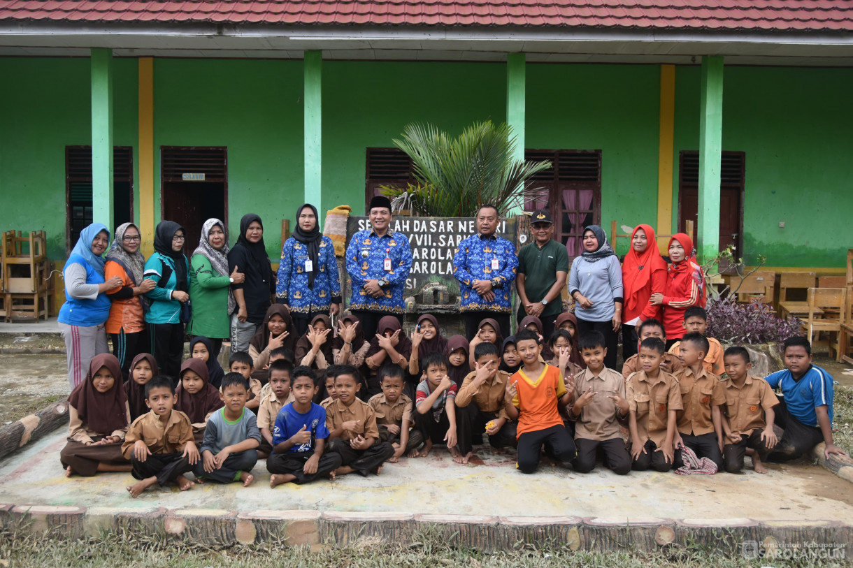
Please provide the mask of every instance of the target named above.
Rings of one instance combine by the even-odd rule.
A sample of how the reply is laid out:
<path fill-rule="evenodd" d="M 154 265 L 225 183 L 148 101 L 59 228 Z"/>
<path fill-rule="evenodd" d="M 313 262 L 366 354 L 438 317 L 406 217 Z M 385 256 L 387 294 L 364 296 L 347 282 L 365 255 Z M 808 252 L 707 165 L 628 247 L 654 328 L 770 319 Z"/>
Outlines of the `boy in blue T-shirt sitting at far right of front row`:
<path fill-rule="evenodd" d="M 824 454 L 847 455 L 833 443 L 833 376 L 811 364 L 808 339 L 794 336 L 783 345 L 785 369 L 765 377 L 782 391 L 775 407 L 775 424 L 785 430 L 768 461 L 789 461 L 826 442 Z"/>

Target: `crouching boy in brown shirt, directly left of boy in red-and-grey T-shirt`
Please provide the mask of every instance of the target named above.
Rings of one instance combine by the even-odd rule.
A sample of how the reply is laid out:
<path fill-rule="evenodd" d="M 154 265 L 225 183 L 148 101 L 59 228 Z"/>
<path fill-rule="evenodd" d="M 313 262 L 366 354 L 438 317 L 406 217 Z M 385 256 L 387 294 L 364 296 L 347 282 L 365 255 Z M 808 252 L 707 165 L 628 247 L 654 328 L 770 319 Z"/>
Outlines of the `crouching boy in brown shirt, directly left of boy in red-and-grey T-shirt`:
<path fill-rule="evenodd" d="M 376 413 L 380 441 L 390 442 L 394 447 L 394 455 L 388 461 L 397 463 L 403 454 L 417 457 L 424 438 L 419 430 L 410 430 L 414 424 L 412 399 L 403 394 L 403 369 L 397 365 L 386 365 L 380 368 L 377 376 L 382 392 L 370 397 L 368 404 Z"/>

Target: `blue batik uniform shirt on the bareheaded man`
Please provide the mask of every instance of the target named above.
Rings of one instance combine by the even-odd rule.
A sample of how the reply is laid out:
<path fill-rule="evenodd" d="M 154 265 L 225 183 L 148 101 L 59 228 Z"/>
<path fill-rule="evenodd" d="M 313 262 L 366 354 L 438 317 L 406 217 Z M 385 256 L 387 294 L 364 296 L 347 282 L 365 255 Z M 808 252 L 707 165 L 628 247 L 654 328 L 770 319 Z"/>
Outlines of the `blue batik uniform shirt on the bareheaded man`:
<path fill-rule="evenodd" d="M 493 269 L 496 260 L 497 268 Z M 510 313 L 513 281 L 519 268 L 519 258 L 513 243 L 492 235 L 472 235 L 459 243 L 453 255 L 453 275 L 459 281 L 461 311 L 494 311 Z M 472 287 L 475 280 L 497 279 L 493 302 L 486 302 Z"/>

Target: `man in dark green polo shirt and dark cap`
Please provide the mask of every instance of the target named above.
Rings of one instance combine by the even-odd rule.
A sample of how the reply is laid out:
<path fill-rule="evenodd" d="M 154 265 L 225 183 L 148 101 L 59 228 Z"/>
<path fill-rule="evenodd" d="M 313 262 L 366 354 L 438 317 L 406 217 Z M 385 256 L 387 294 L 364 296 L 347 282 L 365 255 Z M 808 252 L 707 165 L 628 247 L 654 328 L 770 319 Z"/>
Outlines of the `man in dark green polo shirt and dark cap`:
<path fill-rule="evenodd" d="M 519 251 L 519 275 L 515 287 L 521 300 L 518 322 L 525 316 L 542 320 L 545 340 L 554 333 L 554 322 L 563 311 L 560 293 L 566 287 L 569 273 L 569 253 L 566 246 L 553 241 L 554 222 L 544 209 L 537 209 L 531 217 L 533 242 Z"/>

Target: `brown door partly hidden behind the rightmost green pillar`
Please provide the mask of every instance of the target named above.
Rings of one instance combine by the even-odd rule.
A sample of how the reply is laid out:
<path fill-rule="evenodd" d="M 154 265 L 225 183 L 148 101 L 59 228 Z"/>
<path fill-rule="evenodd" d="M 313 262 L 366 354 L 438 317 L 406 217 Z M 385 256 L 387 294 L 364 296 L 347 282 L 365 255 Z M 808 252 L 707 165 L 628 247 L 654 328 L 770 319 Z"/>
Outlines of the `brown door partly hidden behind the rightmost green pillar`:
<path fill-rule="evenodd" d="M 743 152 L 722 153 L 722 182 L 720 184 L 720 250 L 734 246 L 734 256 L 740 257 L 741 228 L 743 227 L 742 198 L 746 155 Z M 699 235 L 699 153 L 681 153 L 678 187 L 678 229 L 685 230 L 685 221 L 695 223 L 693 241 Z"/>

